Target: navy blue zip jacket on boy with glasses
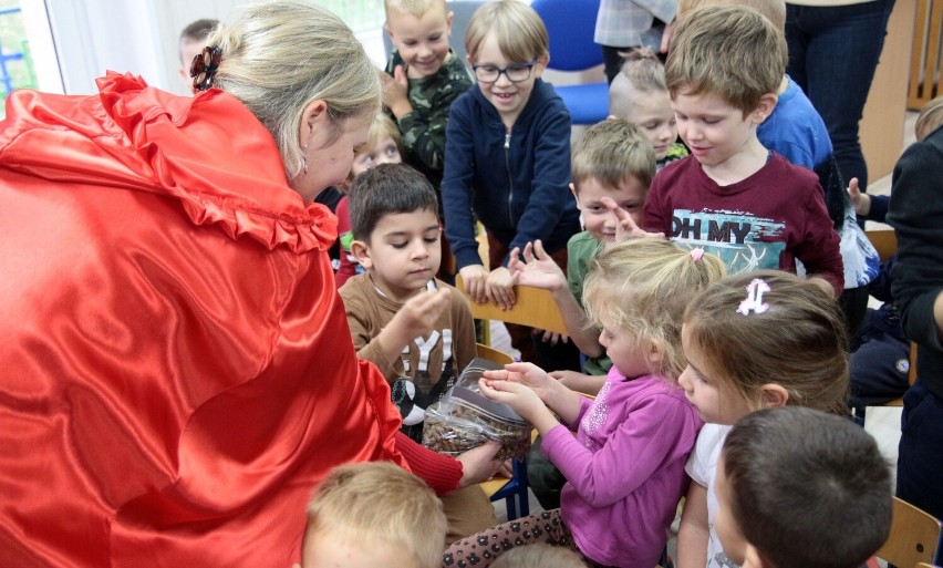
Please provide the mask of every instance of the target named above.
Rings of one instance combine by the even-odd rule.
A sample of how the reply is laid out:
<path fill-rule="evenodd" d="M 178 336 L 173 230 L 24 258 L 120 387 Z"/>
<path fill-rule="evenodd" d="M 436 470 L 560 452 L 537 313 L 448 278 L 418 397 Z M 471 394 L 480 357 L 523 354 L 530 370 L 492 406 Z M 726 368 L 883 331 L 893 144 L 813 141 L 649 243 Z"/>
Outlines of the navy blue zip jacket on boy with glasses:
<path fill-rule="evenodd" d="M 473 209 L 509 250 L 537 239 L 564 248 L 580 229 L 569 183 L 570 113 L 552 85 L 535 82 L 510 132 L 477 86 L 452 103 L 442 200 L 459 269 L 481 264 Z"/>

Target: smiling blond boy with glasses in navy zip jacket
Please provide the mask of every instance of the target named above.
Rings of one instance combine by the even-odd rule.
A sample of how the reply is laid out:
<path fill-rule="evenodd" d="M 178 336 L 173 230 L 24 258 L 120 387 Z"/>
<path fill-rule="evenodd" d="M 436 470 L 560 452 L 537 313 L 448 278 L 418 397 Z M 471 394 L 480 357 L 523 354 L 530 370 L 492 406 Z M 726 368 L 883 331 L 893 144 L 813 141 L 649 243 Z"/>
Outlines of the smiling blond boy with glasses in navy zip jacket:
<path fill-rule="evenodd" d="M 547 29 L 526 3 L 483 4 L 468 23 L 465 48 L 478 89 L 459 96 L 449 113 L 445 231 L 468 296 L 509 308 L 508 252 L 541 240 L 562 268 L 567 240 L 579 230 L 568 190 L 570 115 L 540 79 L 549 61 Z M 488 265 L 478 256 L 476 216 L 487 231 Z"/>

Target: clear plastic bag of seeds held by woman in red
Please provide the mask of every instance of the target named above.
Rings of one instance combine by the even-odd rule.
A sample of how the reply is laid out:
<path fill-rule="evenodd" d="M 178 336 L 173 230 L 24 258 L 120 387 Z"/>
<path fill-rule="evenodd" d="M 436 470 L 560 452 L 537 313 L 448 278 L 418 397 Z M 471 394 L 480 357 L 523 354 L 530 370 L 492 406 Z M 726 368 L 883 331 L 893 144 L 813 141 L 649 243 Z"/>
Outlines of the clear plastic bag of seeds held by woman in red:
<path fill-rule="evenodd" d="M 455 385 L 426 409 L 423 445 L 455 456 L 494 440 L 501 444 L 498 459 L 527 456 L 533 426 L 507 404 L 487 399 L 478 390 L 478 379 L 494 369 L 501 366 L 486 359 L 468 363 Z"/>

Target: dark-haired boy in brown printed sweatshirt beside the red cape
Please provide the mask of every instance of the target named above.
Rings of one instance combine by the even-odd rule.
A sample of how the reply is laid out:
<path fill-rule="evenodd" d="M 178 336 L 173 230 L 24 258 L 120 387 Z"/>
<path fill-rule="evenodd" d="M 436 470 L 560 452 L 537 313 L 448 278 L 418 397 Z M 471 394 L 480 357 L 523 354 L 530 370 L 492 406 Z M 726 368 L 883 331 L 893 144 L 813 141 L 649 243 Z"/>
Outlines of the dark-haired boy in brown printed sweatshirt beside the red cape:
<path fill-rule="evenodd" d="M 422 442 L 425 409 L 476 354 L 468 302 L 435 279 L 442 234 L 435 189 L 410 166 L 383 164 L 354 179 L 350 207 L 351 252 L 365 270 L 340 289 L 354 348 L 390 382 L 403 433 Z M 495 523 L 477 485 L 443 503 L 446 544 Z"/>

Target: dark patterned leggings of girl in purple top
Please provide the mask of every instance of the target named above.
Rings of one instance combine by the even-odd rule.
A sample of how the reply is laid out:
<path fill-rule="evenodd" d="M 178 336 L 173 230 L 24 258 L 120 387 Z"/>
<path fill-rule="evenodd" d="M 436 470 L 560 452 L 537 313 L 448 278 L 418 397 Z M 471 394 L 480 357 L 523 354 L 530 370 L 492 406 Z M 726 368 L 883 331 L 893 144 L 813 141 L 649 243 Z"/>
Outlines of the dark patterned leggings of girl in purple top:
<path fill-rule="evenodd" d="M 546 543 L 576 550 L 590 568 L 603 568 L 587 558 L 573 541 L 570 529 L 560 519 L 560 509 L 545 510 L 456 540 L 442 557 L 443 568 L 486 568 L 502 552 L 518 546 Z"/>

